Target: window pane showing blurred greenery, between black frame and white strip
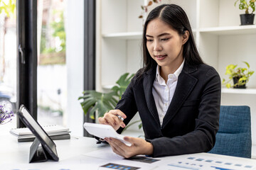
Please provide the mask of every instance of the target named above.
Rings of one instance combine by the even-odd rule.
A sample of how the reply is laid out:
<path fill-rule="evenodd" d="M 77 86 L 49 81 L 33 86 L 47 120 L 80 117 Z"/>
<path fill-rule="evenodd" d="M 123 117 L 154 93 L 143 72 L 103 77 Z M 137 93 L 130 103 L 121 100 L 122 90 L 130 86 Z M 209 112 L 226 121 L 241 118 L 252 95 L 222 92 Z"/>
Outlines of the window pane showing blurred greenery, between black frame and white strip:
<path fill-rule="evenodd" d="M 38 0 L 38 122 L 63 125 L 67 101 L 65 1 Z"/>

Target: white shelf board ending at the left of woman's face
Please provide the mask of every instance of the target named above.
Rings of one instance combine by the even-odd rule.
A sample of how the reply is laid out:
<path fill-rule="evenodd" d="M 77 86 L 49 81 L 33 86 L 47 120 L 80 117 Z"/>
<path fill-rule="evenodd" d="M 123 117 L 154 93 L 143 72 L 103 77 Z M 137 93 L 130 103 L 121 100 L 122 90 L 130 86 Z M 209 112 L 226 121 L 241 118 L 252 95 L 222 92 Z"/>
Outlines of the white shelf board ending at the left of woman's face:
<path fill-rule="evenodd" d="M 142 32 L 109 33 L 109 34 L 103 34 L 102 37 L 124 39 L 124 40 L 142 39 Z"/>

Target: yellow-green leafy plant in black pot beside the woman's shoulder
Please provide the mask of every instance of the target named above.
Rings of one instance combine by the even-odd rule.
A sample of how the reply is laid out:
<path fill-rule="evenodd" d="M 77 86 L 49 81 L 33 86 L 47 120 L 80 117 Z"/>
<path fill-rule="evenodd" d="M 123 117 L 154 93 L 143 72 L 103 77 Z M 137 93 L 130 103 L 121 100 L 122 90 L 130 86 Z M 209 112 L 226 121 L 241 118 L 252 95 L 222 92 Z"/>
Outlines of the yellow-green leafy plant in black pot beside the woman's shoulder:
<path fill-rule="evenodd" d="M 225 84 L 226 87 L 230 88 L 233 87 L 235 89 L 245 89 L 246 83 L 249 81 L 249 77 L 252 76 L 254 71 L 250 71 L 250 64 L 247 62 L 244 62 L 247 65 L 247 68 L 238 67 L 238 65 L 229 64 L 226 67 L 225 74 L 229 75 L 229 80 L 225 81 L 223 79 L 223 84 Z M 231 80 L 233 80 L 233 86 L 229 83 Z"/>

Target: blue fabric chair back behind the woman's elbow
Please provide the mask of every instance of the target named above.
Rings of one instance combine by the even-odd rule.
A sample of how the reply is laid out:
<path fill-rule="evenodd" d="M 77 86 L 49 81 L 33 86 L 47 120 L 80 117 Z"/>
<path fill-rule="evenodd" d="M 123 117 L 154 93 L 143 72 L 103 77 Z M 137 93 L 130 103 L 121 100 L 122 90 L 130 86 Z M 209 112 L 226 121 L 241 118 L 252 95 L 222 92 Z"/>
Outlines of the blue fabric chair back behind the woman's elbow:
<path fill-rule="evenodd" d="M 220 128 L 209 153 L 251 157 L 250 107 L 220 106 Z"/>

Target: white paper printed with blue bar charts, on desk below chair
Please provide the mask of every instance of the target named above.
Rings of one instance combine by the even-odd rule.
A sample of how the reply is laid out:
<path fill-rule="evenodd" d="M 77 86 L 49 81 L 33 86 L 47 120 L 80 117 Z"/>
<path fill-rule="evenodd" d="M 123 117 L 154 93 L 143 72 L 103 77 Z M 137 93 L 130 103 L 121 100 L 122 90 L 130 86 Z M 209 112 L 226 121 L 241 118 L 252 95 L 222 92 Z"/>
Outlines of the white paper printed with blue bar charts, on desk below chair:
<path fill-rule="evenodd" d="M 167 162 L 167 161 L 166 161 Z M 254 170 L 256 164 L 230 161 L 225 159 L 213 159 L 213 157 L 180 157 L 171 160 L 157 170 Z"/>

